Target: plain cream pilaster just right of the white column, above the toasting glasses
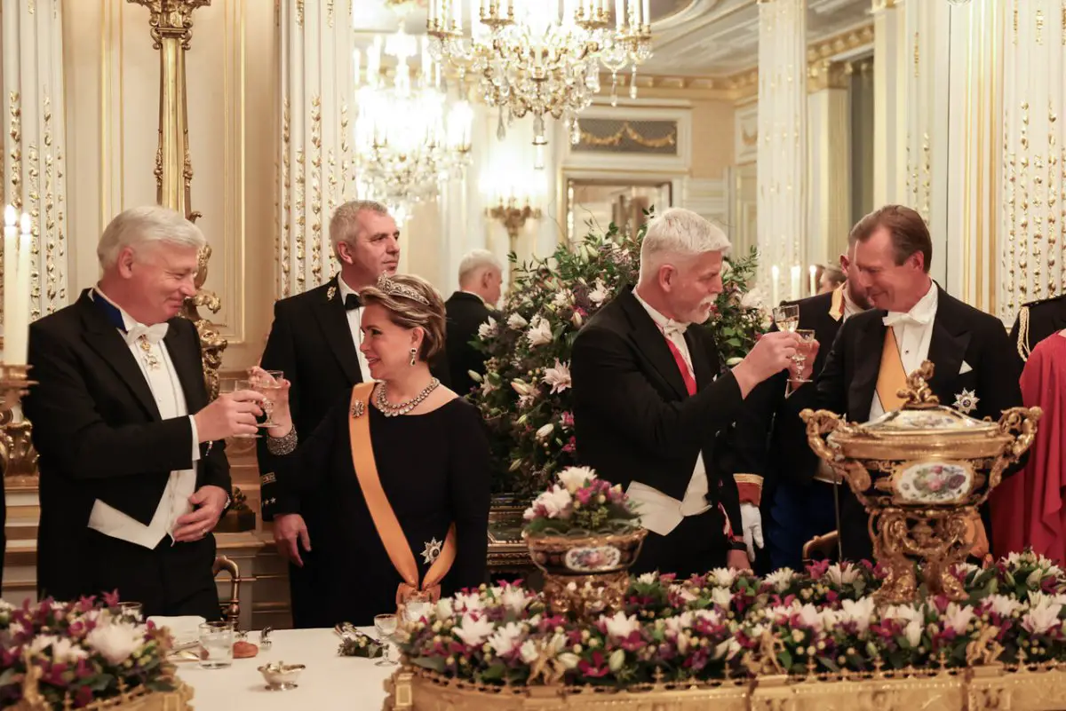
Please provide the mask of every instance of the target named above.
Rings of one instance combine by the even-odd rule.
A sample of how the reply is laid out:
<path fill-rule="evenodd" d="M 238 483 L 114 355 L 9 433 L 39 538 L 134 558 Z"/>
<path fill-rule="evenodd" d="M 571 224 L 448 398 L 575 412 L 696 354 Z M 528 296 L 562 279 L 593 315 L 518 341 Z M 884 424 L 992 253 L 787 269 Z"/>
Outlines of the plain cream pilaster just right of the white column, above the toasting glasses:
<path fill-rule="evenodd" d="M 808 68 L 807 259 L 811 263 L 835 264 L 847 245 L 853 186 L 851 76 L 846 62 L 818 60 Z"/>

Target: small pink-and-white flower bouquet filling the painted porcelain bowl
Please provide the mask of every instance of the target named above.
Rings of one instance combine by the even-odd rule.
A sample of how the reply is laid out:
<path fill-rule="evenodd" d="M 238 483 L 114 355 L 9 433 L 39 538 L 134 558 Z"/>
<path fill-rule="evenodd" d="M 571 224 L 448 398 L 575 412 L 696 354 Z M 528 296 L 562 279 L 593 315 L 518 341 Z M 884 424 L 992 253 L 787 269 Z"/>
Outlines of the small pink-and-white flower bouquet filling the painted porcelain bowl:
<path fill-rule="evenodd" d="M 526 510 L 530 535 L 614 533 L 639 526 L 634 505 L 621 486 L 597 478 L 587 466 L 567 467 L 559 480 Z"/>

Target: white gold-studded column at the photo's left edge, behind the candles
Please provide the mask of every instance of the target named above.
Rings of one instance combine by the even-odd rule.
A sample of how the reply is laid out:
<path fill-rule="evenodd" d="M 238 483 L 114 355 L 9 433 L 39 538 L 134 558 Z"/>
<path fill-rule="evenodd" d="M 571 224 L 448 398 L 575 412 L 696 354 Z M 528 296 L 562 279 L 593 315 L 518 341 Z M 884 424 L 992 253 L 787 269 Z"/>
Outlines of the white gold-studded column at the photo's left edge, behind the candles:
<path fill-rule="evenodd" d="M 0 0 L 0 206 L 14 204 L 32 221 L 30 290 L 35 319 L 66 305 L 68 299 L 60 0 Z"/>

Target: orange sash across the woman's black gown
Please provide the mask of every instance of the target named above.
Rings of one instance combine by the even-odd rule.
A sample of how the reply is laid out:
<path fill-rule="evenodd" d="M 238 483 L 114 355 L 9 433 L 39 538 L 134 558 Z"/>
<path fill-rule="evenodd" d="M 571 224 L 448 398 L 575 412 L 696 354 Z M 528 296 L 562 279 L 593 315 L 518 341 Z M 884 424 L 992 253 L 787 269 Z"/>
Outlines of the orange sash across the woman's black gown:
<path fill-rule="evenodd" d="M 410 550 L 407 536 L 404 535 L 400 522 L 397 519 L 392 505 L 389 503 L 382 480 L 377 474 L 377 463 L 374 461 L 374 448 L 370 441 L 370 394 L 374 383 L 359 383 L 352 388 L 353 414 L 349 418 L 349 433 L 352 445 L 352 464 L 355 476 L 359 480 L 359 489 L 367 500 L 370 517 L 374 520 L 377 535 L 385 545 L 385 551 L 395 567 L 403 582 L 397 589 L 397 608 L 402 608 L 408 599 L 425 599 L 436 601 L 440 598 L 440 581 L 448 575 L 455 562 L 455 524 L 448 529 L 440 555 L 433 561 L 425 574 L 425 580 L 419 585 L 418 564 L 415 553 Z"/>

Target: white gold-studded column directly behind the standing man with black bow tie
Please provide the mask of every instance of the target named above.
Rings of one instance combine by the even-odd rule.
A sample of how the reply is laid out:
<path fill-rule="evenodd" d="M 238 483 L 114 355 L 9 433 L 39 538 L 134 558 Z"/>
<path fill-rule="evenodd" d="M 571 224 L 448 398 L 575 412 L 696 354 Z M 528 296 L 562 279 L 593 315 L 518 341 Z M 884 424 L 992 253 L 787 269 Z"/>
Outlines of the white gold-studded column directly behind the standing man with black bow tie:
<path fill-rule="evenodd" d="M 277 286 L 285 298 L 313 288 L 337 265 L 329 217 L 356 197 L 352 152 L 353 3 L 279 0 L 281 37 Z"/>

